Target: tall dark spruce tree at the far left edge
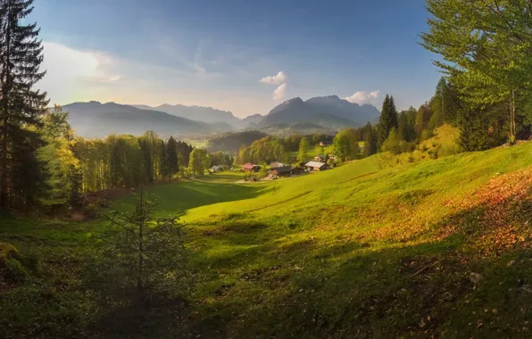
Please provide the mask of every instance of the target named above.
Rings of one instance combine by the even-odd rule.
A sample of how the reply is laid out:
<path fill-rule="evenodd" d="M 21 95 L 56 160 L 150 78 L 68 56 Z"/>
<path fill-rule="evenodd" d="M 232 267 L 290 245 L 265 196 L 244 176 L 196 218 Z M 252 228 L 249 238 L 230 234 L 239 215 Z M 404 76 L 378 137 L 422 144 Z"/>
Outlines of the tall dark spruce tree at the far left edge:
<path fill-rule="evenodd" d="M 36 131 L 45 112 L 46 92 L 34 89 L 45 76 L 40 71 L 43 47 L 36 23 L 22 20 L 33 0 L 0 1 L 0 209 L 28 209 L 42 186 Z"/>

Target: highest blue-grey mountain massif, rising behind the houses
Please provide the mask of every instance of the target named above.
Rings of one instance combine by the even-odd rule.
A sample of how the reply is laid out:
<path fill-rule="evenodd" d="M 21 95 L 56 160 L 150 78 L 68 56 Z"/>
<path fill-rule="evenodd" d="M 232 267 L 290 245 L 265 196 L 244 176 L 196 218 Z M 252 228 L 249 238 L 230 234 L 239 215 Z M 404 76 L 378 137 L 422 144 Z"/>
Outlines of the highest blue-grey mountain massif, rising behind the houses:
<path fill-rule="evenodd" d="M 260 127 L 311 122 L 326 128 L 345 128 L 365 124 L 378 118 L 377 108 L 350 103 L 337 95 L 314 97 L 303 101 L 300 97 L 287 100 L 273 108 L 259 123 Z"/>

